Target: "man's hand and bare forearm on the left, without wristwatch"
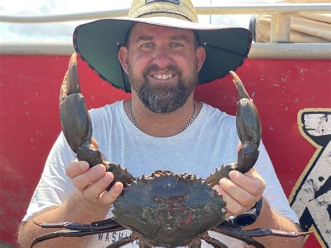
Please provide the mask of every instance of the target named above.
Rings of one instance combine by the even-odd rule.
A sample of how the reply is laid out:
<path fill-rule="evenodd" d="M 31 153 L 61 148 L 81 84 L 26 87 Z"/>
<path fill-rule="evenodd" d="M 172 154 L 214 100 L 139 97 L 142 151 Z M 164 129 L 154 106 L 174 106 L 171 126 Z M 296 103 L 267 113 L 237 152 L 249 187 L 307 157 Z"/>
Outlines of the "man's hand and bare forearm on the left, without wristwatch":
<path fill-rule="evenodd" d="M 94 147 L 98 147 L 92 138 Z M 36 223 L 55 223 L 72 221 L 89 224 L 100 221 L 107 216 L 112 203 L 123 190 L 123 184 L 116 182 L 110 191 L 105 188 L 112 182 L 114 175 L 106 172 L 105 166 L 98 164 L 89 168 L 86 161 L 73 161 L 66 167 L 66 175 L 77 189 L 57 207 L 49 207 L 39 212 L 20 227 L 19 242 L 22 247 L 29 247 L 34 238 L 49 233 L 47 228 L 41 228 Z M 89 236 L 83 238 L 47 240 L 43 247 L 86 247 Z"/>

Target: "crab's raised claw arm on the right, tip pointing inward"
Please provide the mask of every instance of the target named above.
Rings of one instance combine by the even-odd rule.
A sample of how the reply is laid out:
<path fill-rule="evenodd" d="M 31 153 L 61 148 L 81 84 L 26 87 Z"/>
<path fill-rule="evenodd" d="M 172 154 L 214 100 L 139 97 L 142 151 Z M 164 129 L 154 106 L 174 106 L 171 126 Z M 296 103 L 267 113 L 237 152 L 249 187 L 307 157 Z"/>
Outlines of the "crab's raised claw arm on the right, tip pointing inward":
<path fill-rule="evenodd" d="M 244 85 L 240 78 L 233 71 L 230 71 L 233 76 L 233 83 L 237 87 L 239 100 L 237 102 L 236 126 L 237 134 L 240 138 L 241 147 L 238 152 L 237 162 L 229 163 L 217 168 L 210 175 L 206 182 L 214 186 L 219 184 L 219 180 L 223 177 L 228 177 L 231 170 L 238 170 L 241 173 L 247 173 L 258 159 L 258 146 L 261 139 L 261 124 L 258 110 L 253 100 L 247 94 Z"/>

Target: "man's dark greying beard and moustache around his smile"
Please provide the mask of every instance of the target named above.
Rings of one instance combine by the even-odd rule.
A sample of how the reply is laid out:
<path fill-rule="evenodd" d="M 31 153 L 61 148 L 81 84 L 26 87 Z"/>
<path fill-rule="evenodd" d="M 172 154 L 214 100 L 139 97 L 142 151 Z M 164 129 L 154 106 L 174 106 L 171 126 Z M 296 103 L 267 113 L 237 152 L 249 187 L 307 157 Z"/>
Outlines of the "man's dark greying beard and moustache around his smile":
<path fill-rule="evenodd" d="M 149 75 L 157 71 L 170 71 L 178 75 L 178 81 L 175 85 L 152 84 L 149 82 Z M 133 74 L 131 65 L 128 65 L 128 81 L 132 88 L 137 92 L 140 101 L 146 108 L 155 113 L 168 113 L 181 108 L 193 92 L 194 87 L 198 85 L 198 68 L 195 65 L 194 70 L 187 78 L 182 77 L 182 71 L 175 65 L 169 65 L 160 68 L 152 64 L 142 72 L 142 78 Z"/>

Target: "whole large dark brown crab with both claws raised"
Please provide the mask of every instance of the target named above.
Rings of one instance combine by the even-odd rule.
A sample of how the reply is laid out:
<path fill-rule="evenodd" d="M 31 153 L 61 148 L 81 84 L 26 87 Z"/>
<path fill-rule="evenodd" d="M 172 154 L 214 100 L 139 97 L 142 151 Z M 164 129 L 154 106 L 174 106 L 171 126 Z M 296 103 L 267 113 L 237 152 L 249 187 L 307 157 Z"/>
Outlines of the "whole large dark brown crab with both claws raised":
<path fill-rule="evenodd" d="M 191 174 L 176 174 L 156 170 L 151 176 L 134 178 L 126 169 L 116 163 L 102 159 L 101 153 L 91 145 L 91 120 L 80 94 L 75 54 L 71 57 L 66 84 L 61 86 L 61 125 L 71 149 L 78 160 L 88 161 L 90 166 L 103 163 L 115 175 L 115 182 L 124 184 L 123 193 L 114 203 L 114 217 L 91 224 L 65 222 L 59 224 L 38 224 L 43 228 L 66 228 L 69 230 L 48 233 L 32 242 L 36 243 L 57 237 L 82 237 L 97 233 L 107 233 L 128 228 L 132 234 L 108 247 L 120 247 L 140 240 L 140 247 L 189 245 L 200 247 L 205 240 L 214 247 L 226 247 L 219 240 L 209 237 L 213 230 L 243 240 L 250 245 L 263 247 L 251 237 L 281 235 L 297 237 L 307 233 L 286 233 L 272 229 L 245 231 L 226 219 L 226 203 L 212 189 L 230 170 L 246 173 L 258 159 L 260 144 L 260 118 L 253 101 L 249 98 L 240 78 L 233 82 L 239 92 L 237 109 L 237 132 L 242 148 L 238 152 L 237 163 L 223 165 L 206 180 Z M 75 114 L 73 114 L 75 113 Z M 110 189 L 110 187 L 108 189 Z"/>

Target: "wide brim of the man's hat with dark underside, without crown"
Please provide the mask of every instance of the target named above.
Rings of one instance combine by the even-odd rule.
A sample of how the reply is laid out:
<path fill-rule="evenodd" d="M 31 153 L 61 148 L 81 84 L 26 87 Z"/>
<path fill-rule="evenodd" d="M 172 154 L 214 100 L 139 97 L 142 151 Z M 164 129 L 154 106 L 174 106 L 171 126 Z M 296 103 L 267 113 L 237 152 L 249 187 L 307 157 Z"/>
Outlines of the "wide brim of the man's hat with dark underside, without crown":
<path fill-rule="evenodd" d="M 128 30 L 137 22 L 159 24 L 147 18 L 105 19 L 76 27 L 73 35 L 75 51 L 87 61 L 92 70 L 113 86 L 131 91 L 126 74 L 119 63 L 117 53 L 124 45 Z M 183 22 L 183 21 L 180 21 Z M 206 50 L 206 59 L 200 70 L 200 84 L 223 78 L 229 71 L 235 71 L 247 58 L 251 48 L 252 35 L 244 28 L 221 28 L 186 22 L 189 26 L 164 24 L 162 26 L 192 29 L 198 42 Z"/>

